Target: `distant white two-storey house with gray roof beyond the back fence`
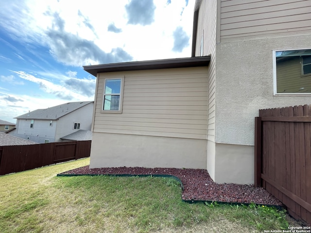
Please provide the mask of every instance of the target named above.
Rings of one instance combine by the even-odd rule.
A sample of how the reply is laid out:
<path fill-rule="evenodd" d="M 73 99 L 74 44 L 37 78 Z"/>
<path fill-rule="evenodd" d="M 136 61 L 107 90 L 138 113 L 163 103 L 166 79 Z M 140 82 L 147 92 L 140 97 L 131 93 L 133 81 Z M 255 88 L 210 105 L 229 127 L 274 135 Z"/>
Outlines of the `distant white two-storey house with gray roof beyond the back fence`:
<path fill-rule="evenodd" d="M 16 130 L 9 134 L 37 143 L 60 142 L 79 130 L 90 130 L 94 101 L 60 104 L 15 117 Z"/>

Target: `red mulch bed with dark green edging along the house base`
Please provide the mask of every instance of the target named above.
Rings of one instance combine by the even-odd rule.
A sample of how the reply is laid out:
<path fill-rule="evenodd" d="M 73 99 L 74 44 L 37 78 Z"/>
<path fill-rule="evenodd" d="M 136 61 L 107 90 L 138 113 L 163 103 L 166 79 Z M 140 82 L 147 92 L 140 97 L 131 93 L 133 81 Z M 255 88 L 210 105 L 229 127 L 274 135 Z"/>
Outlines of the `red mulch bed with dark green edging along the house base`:
<path fill-rule="evenodd" d="M 264 188 L 254 185 L 234 183 L 214 183 L 207 170 L 178 168 L 144 168 L 144 167 L 103 167 L 89 169 L 79 167 L 62 174 L 71 175 L 172 175 L 183 183 L 183 200 L 222 201 L 234 203 L 257 203 L 264 205 L 283 205 Z"/>

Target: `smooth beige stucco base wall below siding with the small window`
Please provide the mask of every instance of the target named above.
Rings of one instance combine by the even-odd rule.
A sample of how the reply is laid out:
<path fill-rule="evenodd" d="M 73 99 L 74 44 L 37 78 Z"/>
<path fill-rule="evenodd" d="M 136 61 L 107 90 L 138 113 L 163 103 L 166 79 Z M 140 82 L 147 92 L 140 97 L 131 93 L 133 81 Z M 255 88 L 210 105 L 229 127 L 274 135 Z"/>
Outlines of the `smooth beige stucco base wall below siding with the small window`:
<path fill-rule="evenodd" d="M 207 164 L 207 140 L 93 133 L 90 168 L 176 167 L 202 168 Z"/>

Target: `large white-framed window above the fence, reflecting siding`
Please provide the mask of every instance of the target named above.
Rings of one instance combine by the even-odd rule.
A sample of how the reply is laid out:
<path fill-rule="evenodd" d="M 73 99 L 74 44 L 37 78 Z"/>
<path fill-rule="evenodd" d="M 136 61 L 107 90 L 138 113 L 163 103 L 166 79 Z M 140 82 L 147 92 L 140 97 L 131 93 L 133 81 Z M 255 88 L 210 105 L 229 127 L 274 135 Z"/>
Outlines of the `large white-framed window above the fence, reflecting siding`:
<path fill-rule="evenodd" d="M 311 49 L 275 50 L 274 94 L 311 95 Z"/>

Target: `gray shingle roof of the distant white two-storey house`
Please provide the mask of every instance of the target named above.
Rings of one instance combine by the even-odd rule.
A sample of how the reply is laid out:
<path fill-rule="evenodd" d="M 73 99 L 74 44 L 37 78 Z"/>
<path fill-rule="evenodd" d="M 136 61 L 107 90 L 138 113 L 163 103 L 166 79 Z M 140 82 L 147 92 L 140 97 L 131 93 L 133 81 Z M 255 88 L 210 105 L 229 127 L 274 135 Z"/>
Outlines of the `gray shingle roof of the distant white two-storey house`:
<path fill-rule="evenodd" d="M 94 101 L 79 101 L 68 102 L 60 104 L 51 108 L 37 109 L 35 111 L 23 114 L 21 116 L 14 117 L 16 119 L 44 119 L 44 120 L 57 120 L 62 116 L 65 116 L 78 108 L 81 108 Z"/>

